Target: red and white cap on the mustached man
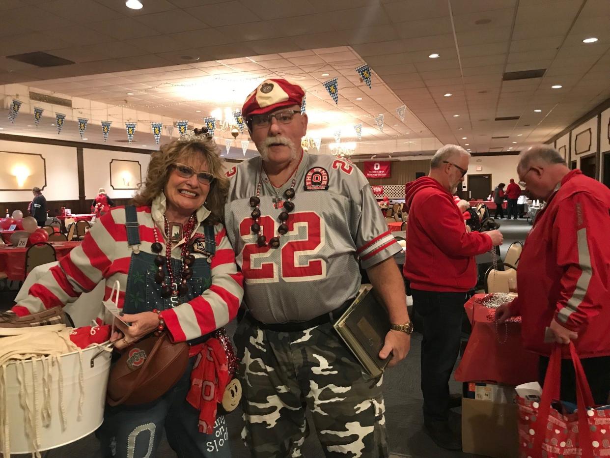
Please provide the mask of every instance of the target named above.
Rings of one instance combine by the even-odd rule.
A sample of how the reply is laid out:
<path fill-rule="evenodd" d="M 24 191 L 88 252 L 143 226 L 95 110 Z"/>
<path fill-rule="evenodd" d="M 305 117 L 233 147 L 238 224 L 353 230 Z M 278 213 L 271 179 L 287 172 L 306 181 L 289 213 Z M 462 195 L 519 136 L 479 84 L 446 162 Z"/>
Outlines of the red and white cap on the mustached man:
<path fill-rule="evenodd" d="M 305 91 L 298 84 L 285 79 L 265 79 L 246 97 L 242 116 L 247 120 L 255 114 L 263 114 L 278 108 L 301 106 Z"/>

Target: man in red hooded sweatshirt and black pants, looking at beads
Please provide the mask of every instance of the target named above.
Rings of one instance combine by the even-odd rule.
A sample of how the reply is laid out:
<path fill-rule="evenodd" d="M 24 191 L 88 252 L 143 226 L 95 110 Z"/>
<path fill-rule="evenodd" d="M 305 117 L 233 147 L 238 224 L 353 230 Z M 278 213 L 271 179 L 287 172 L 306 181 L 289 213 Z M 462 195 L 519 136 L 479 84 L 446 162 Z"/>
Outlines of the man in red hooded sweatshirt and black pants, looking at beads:
<path fill-rule="evenodd" d="M 476 285 L 475 255 L 502 244 L 500 231 L 468 232 L 453 194 L 464 181 L 470 154 L 440 148 L 430 173 L 406 189 L 409 211 L 404 276 L 414 310 L 423 318 L 422 393 L 426 431 L 437 445 L 461 449 L 448 425 L 449 377 L 458 357 L 467 293 Z"/>

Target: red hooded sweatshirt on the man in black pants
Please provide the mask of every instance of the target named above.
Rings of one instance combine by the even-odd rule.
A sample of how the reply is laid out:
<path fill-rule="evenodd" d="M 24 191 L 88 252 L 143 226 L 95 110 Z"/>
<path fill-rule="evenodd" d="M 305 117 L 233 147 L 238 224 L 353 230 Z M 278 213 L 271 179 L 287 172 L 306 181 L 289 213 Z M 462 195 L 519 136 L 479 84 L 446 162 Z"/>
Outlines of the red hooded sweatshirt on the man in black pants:
<path fill-rule="evenodd" d="M 434 178 L 406 187 L 407 255 L 403 274 L 411 288 L 468 291 L 476 285 L 475 255 L 492 249 L 489 236 L 467 232 L 453 196 Z"/>

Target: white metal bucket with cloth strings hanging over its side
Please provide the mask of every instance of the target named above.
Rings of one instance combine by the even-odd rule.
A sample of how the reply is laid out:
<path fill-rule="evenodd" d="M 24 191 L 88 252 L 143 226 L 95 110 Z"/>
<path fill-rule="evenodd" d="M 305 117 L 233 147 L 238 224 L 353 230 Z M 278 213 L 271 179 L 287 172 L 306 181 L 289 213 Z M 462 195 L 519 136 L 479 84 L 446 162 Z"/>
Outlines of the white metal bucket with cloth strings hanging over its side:
<path fill-rule="evenodd" d="M 44 399 L 42 374 L 43 363 L 41 358 L 25 362 L 26 396 L 29 405 L 34 406 L 34 372 L 37 372 L 37 404 L 35 410 L 38 428 L 39 451 L 60 447 L 69 444 L 95 431 L 104 418 L 104 405 L 106 404 L 106 385 L 110 372 L 110 352 L 102 351 L 93 360 L 91 358 L 100 352 L 97 346 L 82 351 L 83 392 L 82 417 L 78 420 L 81 388 L 79 387 L 79 352 L 66 353 L 60 356 L 63 378 L 63 405 L 65 408 L 65 429 L 62 427 L 60 396 L 59 396 L 59 369 L 57 364 L 52 365 L 49 360 L 51 372 L 51 386 L 49 396 L 51 400 L 51 421 L 48 426 L 42 426 L 42 402 Z M 45 358 L 47 359 L 47 358 Z M 46 362 L 45 362 L 46 364 Z M 20 369 L 21 371 L 21 369 Z M 6 367 L 6 398 L 7 412 L 10 423 L 10 451 L 11 454 L 33 453 L 32 441 L 26 435 L 26 411 L 21 407 L 19 393 L 20 383 L 17 379 L 17 363 L 11 362 Z M 1 450 L 1 448 L 0 448 Z"/>

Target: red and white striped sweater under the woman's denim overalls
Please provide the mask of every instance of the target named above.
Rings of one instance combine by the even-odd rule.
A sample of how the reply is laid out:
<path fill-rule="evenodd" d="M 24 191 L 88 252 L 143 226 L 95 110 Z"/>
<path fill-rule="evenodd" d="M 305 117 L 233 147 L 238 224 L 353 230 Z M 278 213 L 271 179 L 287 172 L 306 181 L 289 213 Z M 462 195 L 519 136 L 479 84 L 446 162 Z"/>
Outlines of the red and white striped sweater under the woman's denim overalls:
<path fill-rule="evenodd" d="M 152 206 L 137 208 L 140 224 L 140 251 L 152 253 L 154 225 L 163 234 L 163 213 L 165 196 L 157 197 Z M 203 234 L 199 223 L 209 215 L 209 210 L 201 207 L 197 213 L 198 230 Z M 201 296 L 184 304 L 161 312 L 168 331 L 174 341 L 185 341 L 205 335 L 222 327 L 235 318 L 243 297 L 243 275 L 237 271 L 235 253 L 226 236 L 223 225 L 215 225 L 216 254 L 212 258 L 212 286 Z M 164 241 L 165 242 L 165 241 Z M 182 243 L 174 244 L 171 255 L 180 259 Z M 102 216 L 85 236 L 82 245 L 73 249 L 69 255 L 52 267 L 38 283 L 29 289 L 29 296 L 12 308 L 21 316 L 36 313 L 43 308 L 56 307 L 74 302 L 81 293 L 91 291 L 102 280 L 106 280 L 104 300 L 110 296 L 115 280 L 121 285 L 118 307 L 123 307 L 127 272 L 132 250 L 127 246 L 125 228 L 125 209 L 115 207 Z M 193 253 L 195 258 L 199 253 Z M 102 307 L 95 304 L 93 307 Z"/>

